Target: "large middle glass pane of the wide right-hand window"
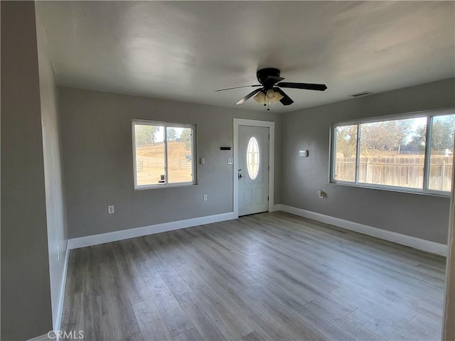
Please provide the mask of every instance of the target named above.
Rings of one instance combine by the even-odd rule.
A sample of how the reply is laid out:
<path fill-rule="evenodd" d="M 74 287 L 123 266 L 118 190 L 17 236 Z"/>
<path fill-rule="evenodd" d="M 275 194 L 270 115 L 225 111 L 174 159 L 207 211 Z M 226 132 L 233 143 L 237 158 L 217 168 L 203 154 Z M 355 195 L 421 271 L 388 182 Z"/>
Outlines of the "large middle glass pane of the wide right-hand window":
<path fill-rule="evenodd" d="M 360 124 L 359 183 L 423 188 L 427 118 Z"/>

